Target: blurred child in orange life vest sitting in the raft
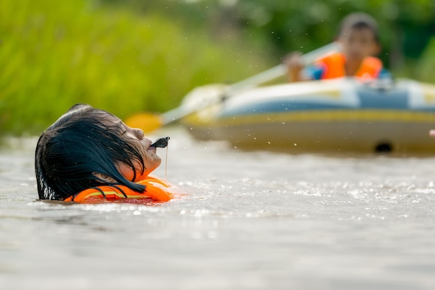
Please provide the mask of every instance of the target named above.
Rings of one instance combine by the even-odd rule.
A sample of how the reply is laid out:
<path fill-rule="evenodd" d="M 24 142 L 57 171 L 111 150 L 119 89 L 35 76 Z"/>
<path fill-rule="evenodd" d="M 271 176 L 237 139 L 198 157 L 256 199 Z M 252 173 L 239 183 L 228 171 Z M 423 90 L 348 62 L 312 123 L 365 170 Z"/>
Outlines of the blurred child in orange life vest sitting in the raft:
<path fill-rule="evenodd" d="M 299 52 L 290 53 L 284 58 L 288 67 L 289 81 L 335 79 L 343 76 L 356 76 L 366 79 L 391 77 L 382 62 L 375 55 L 381 45 L 376 20 L 366 13 L 347 15 L 340 24 L 336 41 L 341 52 L 320 58 L 313 65 L 304 67 Z"/>

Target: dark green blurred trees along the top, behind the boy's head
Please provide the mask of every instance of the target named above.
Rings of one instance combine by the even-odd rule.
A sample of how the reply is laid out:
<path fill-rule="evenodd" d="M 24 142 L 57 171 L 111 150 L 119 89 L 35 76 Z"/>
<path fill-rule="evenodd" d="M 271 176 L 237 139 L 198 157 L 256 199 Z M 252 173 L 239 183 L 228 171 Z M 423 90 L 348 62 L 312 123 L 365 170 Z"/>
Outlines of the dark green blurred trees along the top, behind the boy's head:
<path fill-rule="evenodd" d="M 260 42 L 276 61 L 288 51 L 311 51 L 331 42 L 346 15 L 366 12 L 379 23 L 382 52 L 390 70 L 412 72 L 435 35 L 434 0 L 101 0 L 164 11 L 172 19 L 203 25 L 226 35 L 231 30 L 243 42 Z M 416 70 L 414 70 L 416 69 Z M 415 72 L 414 72 L 415 71 Z"/>

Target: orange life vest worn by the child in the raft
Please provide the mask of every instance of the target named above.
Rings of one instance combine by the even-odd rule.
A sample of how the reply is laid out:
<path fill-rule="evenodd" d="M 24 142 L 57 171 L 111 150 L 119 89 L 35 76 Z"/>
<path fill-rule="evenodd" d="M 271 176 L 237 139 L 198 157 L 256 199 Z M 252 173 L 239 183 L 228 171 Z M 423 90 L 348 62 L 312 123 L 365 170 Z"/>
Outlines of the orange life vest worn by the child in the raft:
<path fill-rule="evenodd" d="M 345 62 L 345 56 L 340 53 L 330 54 L 329 56 L 320 58 L 317 63 L 324 68 L 322 79 L 335 79 L 346 76 Z M 373 56 L 367 56 L 363 59 L 359 70 L 354 76 L 376 79 L 379 77 L 381 70 L 381 60 Z"/>

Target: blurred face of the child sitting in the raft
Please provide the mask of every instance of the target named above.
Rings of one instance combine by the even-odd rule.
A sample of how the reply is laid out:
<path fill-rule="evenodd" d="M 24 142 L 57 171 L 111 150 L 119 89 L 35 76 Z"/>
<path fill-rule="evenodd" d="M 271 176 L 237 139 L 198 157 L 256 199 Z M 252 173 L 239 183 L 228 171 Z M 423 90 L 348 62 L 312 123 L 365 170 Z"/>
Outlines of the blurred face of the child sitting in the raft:
<path fill-rule="evenodd" d="M 351 28 L 341 33 L 339 42 L 348 61 L 362 61 L 366 56 L 379 53 L 379 44 L 375 35 L 368 28 Z"/>

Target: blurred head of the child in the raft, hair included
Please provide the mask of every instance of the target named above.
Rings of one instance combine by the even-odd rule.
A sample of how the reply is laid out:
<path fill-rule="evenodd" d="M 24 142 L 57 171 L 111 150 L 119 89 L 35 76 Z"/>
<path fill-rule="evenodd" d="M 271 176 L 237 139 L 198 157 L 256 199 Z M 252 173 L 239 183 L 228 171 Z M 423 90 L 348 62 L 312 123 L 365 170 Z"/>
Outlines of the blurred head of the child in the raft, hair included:
<path fill-rule="evenodd" d="M 381 48 L 377 22 L 366 13 L 347 15 L 341 22 L 337 40 L 343 45 L 343 53 L 350 61 L 375 56 Z"/>

